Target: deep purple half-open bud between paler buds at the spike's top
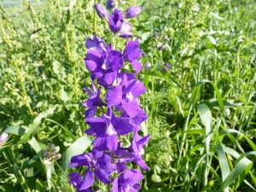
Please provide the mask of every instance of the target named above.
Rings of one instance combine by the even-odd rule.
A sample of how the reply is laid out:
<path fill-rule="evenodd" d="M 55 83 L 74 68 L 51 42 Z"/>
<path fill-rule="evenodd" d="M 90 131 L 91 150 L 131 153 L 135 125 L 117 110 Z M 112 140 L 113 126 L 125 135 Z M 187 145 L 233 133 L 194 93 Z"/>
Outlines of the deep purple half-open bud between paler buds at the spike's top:
<path fill-rule="evenodd" d="M 123 15 L 119 9 L 114 9 L 110 20 L 108 22 L 109 28 L 113 33 L 120 31 L 121 26 L 123 25 Z"/>

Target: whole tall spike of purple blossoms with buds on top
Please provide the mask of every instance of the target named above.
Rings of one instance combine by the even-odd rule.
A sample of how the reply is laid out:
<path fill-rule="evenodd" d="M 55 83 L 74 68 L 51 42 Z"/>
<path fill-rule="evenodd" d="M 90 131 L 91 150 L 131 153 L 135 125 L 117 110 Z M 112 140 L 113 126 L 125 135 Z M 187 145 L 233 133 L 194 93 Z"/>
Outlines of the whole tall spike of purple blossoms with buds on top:
<path fill-rule="evenodd" d="M 107 8 L 114 8 L 113 1 L 108 0 Z M 114 49 L 113 44 L 105 44 L 100 37 L 93 36 L 86 40 L 88 51 L 84 63 L 90 71 L 92 89 L 84 88 L 90 96 L 83 103 L 87 108 L 84 112 L 85 122 L 90 126 L 85 133 L 95 137 L 95 140 L 90 153 L 72 157 L 69 167 L 86 168 L 84 176 L 79 172 L 70 173 L 69 183 L 82 192 L 136 192 L 141 188 L 139 182 L 143 174 L 139 169 L 131 169 L 129 164 L 134 162 L 144 171 L 149 170 L 142 155 L 143 146 L 148 143 L 150 136 L 139 135 L 140 125 L 148 116 L 140 107 L 138 97 L 146 92 L 146 88 L 135 73 L 121 69 L 125 62 L 130 63 L 136 73 L 140 73 L 143 67 L 138 61 L 143 55 L 139 40 L 129 39 L 133 37 L 131 23 L 124 21 L 124 18 L 137 16 L 142 8 L 132 6 L 123 13 L 120 9 L 113 9 L 111 15 L 100 3 L 96 3 L 95 9 L 102 20 L 108 20 L 109 29 L 115 37 L 126 38 L 126 44 L 125 49 L 120 51 Z M 102 92 L 106 93 L 105 96 L 102 96 Z M 95 178 L 104 183 L 106 189 L 99 189 L 102 185 L 96 184 Z"/>

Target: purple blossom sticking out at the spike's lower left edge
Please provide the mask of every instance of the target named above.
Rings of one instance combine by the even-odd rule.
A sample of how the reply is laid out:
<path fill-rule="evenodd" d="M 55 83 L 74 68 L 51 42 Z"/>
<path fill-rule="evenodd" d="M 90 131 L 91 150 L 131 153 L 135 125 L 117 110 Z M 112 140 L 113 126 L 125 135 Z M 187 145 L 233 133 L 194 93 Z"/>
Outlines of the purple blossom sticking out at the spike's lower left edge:
<path fill-rule="evenodd" d="M 79 178 L 77 174 L 72 175 L 73 178 L 71 180 L 73 185 L 74 187 L 79 187 L 79 190 L 90 188 L 94 183 L 94 176 L 102 181 L 102 183 L 110 183 L 108 176 L 114 171 L 114 166 L 111 164 L 111 157 L 108 154 L 97 151 L 95 148 L 92 150 L 92 153 L 73 156 L 68 167 L 74 166 L 87 166 L 82 183 L 82 178 Z M 79 180 L 75 180 L 75 178 Z"/>

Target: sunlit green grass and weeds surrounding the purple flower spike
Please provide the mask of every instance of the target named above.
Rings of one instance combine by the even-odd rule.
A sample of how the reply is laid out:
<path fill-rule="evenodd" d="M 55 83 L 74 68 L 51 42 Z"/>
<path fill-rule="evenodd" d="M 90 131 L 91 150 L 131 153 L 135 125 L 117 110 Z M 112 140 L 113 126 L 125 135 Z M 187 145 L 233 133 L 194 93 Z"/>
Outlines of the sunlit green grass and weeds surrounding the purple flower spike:
<path fill-rule="evenodd" d="M 122 2 L 143 7 L 132 32 L 141 38 L 140 61 L 151 64 L 138 75 L 147 88 L 141 133 L 151 135 L 141 191 L 256 191 L 255 1 Z M 75 191 L 70 158 L 92 146 L 82 88 L 90 87 L 84 43 L 93 2 L 0 6 L 0 131 L 9 133 L 0 190 Z M 109 43 L 106 25 L 97 18 L 96 35 Z M 49 143 L 61 159 L 44 166 L 40 151 Z"/>

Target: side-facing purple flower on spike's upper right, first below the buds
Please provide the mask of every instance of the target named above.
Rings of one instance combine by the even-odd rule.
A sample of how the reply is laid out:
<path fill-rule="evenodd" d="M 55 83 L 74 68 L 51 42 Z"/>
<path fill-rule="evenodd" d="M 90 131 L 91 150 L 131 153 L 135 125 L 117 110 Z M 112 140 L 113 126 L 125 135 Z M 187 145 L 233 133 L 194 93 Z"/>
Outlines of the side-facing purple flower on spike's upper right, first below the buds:
<path fill-rule="evenodd" d="M 140 73 L 143 64 L 137 61 L 142 56 L 142 51 L 139 48 L 138 41 L 127 41 L 124 50 L 124 60 L 129 61 L 136 73 Z"/>

